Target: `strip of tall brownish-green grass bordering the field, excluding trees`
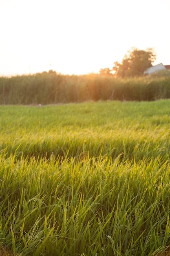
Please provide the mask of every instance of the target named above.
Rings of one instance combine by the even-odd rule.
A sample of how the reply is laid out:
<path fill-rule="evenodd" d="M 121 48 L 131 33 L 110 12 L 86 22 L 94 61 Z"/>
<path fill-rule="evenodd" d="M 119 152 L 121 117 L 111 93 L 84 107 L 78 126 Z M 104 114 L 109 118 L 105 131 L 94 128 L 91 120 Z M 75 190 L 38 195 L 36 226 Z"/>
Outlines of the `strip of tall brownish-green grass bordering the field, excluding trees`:
<path fill-rule="evenodd" d="M 0 77 L 0 104 L 56 104 L 170 98 L 170 72 L 141 78 L 119 79 L 89 74 L 68 76 L 56 72 Z"/>

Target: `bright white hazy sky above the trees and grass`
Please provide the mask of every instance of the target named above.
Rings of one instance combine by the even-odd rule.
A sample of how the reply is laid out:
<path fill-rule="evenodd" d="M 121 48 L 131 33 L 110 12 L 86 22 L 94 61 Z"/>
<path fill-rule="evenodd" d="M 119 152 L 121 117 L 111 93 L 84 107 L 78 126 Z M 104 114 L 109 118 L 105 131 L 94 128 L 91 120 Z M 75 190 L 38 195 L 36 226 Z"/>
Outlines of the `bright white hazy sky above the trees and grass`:
<path fill-rule="evenodd" d="M 155 48 L 170 65 L 170 0 L 0 0 L 0 76 L 87 74 Z"/>

